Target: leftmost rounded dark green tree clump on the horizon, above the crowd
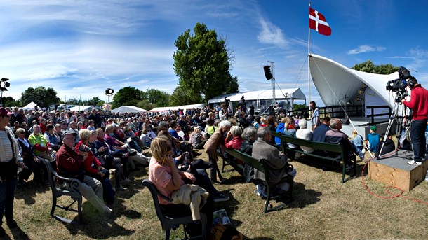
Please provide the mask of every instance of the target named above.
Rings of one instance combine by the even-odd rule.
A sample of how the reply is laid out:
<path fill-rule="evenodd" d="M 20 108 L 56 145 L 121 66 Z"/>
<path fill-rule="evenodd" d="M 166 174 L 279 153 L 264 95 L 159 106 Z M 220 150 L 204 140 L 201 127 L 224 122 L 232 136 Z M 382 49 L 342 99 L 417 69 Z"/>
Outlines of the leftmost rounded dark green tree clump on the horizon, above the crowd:
<path fill-rule="evenodd" d="M 51 104 L 58 104 L 60 99 L 57 97 L 57 92 L 52 87 L 28 87 L 27 90 L 22 92 L 20 98 L 22 106 L 34 102 L 35 104 L 43 104 L 50 106 Z"/>

